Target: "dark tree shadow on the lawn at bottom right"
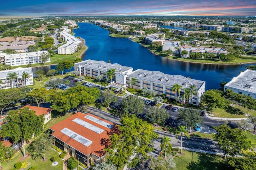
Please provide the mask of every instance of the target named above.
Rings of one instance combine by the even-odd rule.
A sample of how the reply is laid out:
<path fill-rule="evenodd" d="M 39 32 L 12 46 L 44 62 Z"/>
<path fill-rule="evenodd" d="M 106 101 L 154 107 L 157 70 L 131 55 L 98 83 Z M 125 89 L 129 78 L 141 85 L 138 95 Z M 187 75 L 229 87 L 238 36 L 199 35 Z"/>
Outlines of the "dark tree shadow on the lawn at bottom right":
<path fill-rule="evenodd" d="M 218 155 L 197 152 L 197 162 L 192 161 L 186 167 L 188 170 L 226 170 L 226 164 Z"/>

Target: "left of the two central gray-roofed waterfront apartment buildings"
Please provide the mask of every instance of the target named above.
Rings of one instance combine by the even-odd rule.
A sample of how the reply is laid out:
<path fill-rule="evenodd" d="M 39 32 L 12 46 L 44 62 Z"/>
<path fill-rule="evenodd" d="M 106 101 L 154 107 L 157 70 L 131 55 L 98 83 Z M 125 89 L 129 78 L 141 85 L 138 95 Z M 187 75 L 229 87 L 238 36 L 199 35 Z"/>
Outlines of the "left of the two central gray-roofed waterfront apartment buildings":
<path fill-rule="evenodd" d="M 116 69 L 112 82 L 116 84 L 125 85 L 126 77 L 133 71 L 132 67 L 122 66 L 120 64 L 106 63 L 104 61 L 86 60 L 74 64 L 75 70 L 79 72 L 79 75 L 89 76 L 96 78 L 98 75 L 102 75 L 102 79 L 107 79 L 106 72 L 110 68 Z"/>

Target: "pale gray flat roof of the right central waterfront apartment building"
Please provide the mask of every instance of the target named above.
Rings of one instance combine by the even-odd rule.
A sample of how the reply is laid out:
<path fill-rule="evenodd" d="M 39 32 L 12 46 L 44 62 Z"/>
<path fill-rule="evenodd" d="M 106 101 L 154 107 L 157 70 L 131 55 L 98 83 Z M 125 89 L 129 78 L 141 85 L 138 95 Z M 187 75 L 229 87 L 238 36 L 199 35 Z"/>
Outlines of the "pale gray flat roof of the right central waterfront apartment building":
<path fill-rule="evenodd" d="M 182 85 L 182 88 L 188 88 L 191 84 L 196 85 L 196 88 L 200 88 L 200 86 L 205 83 L 204 81 L 186 78 L 181 75 L 170 75 L 164 74 L 160 71 L 148 71 L 142 69 L 135 70 L 134 72 L 129 74 L 129 76 L 152 82 L 158 82 L 160 84 L 166 84 L 169 86 L 173 86 L 174 84 L 184 84 Z"/>

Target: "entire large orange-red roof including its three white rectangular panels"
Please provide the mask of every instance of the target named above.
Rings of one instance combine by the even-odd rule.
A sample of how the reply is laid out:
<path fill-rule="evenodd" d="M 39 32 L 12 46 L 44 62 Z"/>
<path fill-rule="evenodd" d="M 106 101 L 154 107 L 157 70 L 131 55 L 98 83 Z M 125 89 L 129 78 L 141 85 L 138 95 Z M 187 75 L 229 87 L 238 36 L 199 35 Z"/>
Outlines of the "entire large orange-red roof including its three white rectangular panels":
<path fill-rule="evenodd" d="M 85 155 L 102 157 L 114 124 L 90 113 L 76 113 L 50 127 L 52 135 Z M 105 144 L 102 144 L 105 140 Z"/>

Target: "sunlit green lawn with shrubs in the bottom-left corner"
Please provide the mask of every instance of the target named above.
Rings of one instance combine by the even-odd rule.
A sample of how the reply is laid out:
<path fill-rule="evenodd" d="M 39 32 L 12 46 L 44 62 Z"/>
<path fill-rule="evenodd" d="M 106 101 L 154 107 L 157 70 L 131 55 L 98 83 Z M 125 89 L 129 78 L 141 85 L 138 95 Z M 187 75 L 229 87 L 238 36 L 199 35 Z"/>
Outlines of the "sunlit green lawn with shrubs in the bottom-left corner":
<path fill-rule="evenodd" d="M 52 156 L 58 156 L 58 152 L 56 152 L 55 150 L 50 149 L 48 152 L 46 152 L 46 158 L 48 160 L 46 160 L 45 162 L 42 161 L 42 159 L 36 159 L 33 160 L 31 158 L 31 156 L 29 156 L 28 158 L 26 158 L 25 160 L 20 160 L 20 157 L 22 156 L 21 153 L 19 153 L 13 160 L 11 160 L 10 162 L 3 162 L 1 164 L 1 166 L 3 167 L 4 170 L 10 170 L 10 169 L 14 169 L 14 164 L 16 164 L 17 162 L 29 162 L 30 165 L 28 167 L 31 166 L 36 166 L 36 168 L 38 170 L 61 170 L 62 169 L 62 164 L 63 164 L 63 160 L 61 160 L 60 158 L 57 160 L 58 165 L 56 166 L 52 166 L 52 162 L 50 161 L 50 158 Z M 27 168 L 28 169 L 28 168 Z"/>

